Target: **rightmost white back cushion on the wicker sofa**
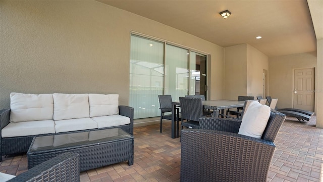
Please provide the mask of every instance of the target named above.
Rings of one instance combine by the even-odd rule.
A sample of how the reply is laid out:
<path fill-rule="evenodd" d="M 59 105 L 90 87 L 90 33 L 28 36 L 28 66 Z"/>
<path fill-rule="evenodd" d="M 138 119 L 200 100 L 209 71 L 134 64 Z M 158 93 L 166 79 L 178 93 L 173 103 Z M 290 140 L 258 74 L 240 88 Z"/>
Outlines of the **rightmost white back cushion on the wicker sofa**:
<path fill-rule="evenodd" d="M 118 94 L 89 94 L 90 117 L 119 114 Z"/>

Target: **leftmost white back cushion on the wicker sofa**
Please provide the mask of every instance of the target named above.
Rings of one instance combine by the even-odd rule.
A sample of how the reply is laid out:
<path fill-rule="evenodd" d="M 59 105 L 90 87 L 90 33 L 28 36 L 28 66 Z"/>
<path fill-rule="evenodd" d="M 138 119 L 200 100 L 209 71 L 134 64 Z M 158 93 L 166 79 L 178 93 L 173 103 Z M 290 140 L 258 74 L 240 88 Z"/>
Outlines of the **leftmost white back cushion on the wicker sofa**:
<path fill-rule="evenodd" d="M 52 94 L 10 94 L 10 122 L 52 120 Z"/>

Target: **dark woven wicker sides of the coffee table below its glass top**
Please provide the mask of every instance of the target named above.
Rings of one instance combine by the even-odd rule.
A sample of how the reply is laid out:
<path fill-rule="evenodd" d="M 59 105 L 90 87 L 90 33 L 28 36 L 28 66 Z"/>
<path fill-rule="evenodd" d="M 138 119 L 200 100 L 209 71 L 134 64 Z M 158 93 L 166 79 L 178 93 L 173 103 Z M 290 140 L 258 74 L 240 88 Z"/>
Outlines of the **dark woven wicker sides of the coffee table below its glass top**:
<path fill-rule="evenodd" d="M 80 154 L 81 171 L 115 164 L 122 161 L 128 161 L 129 165 L 133 165 L 134 138 L 132 136 L 127 139 L 113 140 L 98 144 L 64 147 L 34 153 L 28 152 L 28 168 L 30 169 L 65 152 Z"/>

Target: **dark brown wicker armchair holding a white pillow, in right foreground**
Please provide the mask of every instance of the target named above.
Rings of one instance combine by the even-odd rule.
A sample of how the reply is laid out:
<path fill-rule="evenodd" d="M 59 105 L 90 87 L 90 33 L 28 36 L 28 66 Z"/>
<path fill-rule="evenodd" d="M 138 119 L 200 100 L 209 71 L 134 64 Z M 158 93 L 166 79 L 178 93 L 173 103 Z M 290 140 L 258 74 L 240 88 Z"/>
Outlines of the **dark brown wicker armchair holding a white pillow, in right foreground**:
<path fill-rule="evenodd" d="M 271 110 L 261 139 L 238 134 L 240 119 L 200 118 L 182 130 L 181 181 L 266 181 L 285 118 Z"/>

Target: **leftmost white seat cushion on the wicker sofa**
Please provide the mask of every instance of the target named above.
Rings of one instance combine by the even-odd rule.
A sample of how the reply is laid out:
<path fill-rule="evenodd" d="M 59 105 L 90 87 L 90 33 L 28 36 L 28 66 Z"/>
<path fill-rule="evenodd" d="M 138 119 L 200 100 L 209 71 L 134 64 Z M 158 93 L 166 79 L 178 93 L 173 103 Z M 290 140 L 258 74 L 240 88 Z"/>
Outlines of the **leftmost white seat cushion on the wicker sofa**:
<path fill-rule="evenodd" d="M 1 130 L 3 138 L 47 133 L 55 133 L 53 120 L 12 122 Z"/>

